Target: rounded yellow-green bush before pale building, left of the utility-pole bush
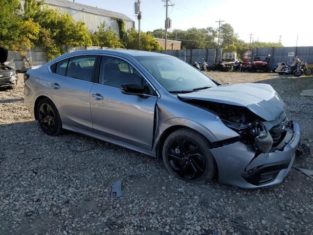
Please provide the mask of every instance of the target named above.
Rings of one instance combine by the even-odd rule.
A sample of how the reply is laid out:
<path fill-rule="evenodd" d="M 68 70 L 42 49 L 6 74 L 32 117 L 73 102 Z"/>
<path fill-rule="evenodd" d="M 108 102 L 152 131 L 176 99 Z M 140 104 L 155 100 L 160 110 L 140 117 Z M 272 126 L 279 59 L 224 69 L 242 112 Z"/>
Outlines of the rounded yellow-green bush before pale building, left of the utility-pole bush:
<path fill-rule="evenodd" d="M 109 47 L 113 49 L 124 47 L 117 34 L 109 28 L 106 29 L 105 24 L 101 24 L 98 27 L 98 31 L 94 32 L 91 38 L 94 46 Z"/>

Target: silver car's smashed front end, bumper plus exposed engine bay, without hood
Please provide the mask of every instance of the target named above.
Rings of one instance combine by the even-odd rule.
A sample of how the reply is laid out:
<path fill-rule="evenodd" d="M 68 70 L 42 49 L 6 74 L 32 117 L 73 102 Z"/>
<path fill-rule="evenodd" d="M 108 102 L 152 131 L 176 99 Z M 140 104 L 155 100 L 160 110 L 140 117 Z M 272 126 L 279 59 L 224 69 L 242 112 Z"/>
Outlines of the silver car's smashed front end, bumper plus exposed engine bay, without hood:
<path fill-rule="evenodd" d="M 244 106 L 197 99 L 182 101 L 215 114 L 239 134 L 238 138 L 212 143 L 220 182 L 258 188 L 277 184 L 287 175 L 300 133 L 285 112 L 268 121 Z"/>

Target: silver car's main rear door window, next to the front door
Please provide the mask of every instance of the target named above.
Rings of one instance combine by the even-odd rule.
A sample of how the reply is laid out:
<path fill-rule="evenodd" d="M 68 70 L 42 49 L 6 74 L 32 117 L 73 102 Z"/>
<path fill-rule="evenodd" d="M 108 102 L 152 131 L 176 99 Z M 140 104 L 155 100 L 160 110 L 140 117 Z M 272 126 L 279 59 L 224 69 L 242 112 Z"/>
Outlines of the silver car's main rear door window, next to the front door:
<path fill-rule="evenodd" d="M 70 58 L 66 76 L 92 82 L 96 57 L 96 55 L 84 55 Z"/>

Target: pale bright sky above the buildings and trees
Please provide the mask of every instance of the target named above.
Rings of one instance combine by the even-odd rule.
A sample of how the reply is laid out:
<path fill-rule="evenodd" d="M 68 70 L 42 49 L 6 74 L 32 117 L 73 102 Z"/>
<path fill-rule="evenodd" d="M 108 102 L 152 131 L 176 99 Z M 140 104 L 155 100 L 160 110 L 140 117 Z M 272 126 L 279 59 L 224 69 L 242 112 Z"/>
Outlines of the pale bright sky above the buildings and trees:
<path fill-rule="evenodd" d="M 75 0 L 90 6 L 123 13 L 135 21 L 134 0 Z M 141 31 L 164 28 L 165 7 L 161 0 L 141 0 Z M 278 42 L 282 36 L 285 47 L 313 46 L 311 28 L 313 0 L 171 0 L 168 8 L 173 29 L 186 30 L 190 27 L 218 27 L 219 19 L 231 24 L 239 38 L 249 42 Z M 297 8 L 297 10 L 293 8 Z"/>

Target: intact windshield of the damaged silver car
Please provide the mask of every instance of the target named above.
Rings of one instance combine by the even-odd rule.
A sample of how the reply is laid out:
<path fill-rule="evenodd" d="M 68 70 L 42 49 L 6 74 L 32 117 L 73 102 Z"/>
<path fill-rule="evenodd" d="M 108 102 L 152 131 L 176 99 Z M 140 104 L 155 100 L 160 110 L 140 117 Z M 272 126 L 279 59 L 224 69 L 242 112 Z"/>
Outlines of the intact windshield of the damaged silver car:
<path fill-rule="evenodd" d="M 208 76 L 170 56 L 136 56 L 136 60 L 171 93 L 193 92 L 217 86 Z"/>

